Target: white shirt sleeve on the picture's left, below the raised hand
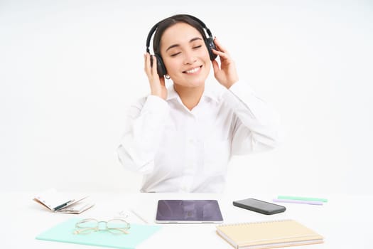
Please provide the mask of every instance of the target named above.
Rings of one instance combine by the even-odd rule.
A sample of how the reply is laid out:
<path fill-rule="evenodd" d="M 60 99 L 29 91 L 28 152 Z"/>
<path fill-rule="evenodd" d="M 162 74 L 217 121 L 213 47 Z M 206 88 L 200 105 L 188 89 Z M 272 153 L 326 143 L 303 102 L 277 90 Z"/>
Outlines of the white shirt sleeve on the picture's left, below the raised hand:
<path fill-rule="evenodd" d="M 124 135 L 117 149 L 119 161 L 126 169 L 148 174 L 168 115 L 168 103 L 149 95 L 129 108 Z"/>

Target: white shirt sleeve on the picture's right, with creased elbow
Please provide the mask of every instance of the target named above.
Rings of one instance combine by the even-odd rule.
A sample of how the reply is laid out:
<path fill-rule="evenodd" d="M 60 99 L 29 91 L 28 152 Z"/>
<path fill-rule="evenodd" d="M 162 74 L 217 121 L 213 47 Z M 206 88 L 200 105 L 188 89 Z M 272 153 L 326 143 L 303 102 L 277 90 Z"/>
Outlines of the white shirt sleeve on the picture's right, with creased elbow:
<path fill-rule="evenodd" d="M 223 95 L 235 114 L 232 154 L 248 154 L 276 147 L 279 142 L 279 116 L 257 97 L 247 83 L 239 81 Z"/>

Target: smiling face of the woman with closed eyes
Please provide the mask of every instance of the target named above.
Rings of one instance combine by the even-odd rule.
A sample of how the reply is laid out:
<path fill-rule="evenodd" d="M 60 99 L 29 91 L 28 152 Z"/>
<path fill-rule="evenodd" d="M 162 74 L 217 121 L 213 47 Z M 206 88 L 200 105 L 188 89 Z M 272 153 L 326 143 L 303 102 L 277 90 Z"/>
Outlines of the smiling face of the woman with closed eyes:
<path fill-rule="evenodd" d="M 205 84 L 211 61 L 200 32 L 187 23 L 175 23 L 161 38 L 161 56 L 173 83 L 188 88 Z"/>

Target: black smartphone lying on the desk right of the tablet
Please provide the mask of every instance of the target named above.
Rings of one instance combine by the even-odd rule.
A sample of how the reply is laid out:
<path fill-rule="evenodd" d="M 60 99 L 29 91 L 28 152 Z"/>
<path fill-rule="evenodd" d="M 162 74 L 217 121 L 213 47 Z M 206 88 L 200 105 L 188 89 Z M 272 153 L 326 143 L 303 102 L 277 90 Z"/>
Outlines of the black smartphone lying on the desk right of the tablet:
<path fill-rule="evenodd" d="M 264 214 L 274 214 L 286 211 L 286 207 L 280 206 L 274 203 L 269 203 L 266 201 L 256 200 L 254 198 L 247 198 L 240 201 L 233 201 L 233 206 L 238 206 L 239 208 L 249 209 L 254 212 L 264 213 Z"/>

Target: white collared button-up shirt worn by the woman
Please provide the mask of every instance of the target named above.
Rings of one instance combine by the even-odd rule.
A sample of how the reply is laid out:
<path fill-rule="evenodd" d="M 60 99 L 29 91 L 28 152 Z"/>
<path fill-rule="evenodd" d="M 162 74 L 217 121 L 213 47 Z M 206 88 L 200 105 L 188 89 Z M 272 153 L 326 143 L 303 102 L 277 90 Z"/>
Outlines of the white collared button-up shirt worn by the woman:
<path fill-rule="evenodd" d="M 206 84 L 193 110 L 172 85 L 167 100 L 148 95 L 130 107 L 118 155 L 144 174 L 141 191 L 221 192 L 232 155 L 274 147 L 276 128 L 274 112 L 244 82 Z"/>

